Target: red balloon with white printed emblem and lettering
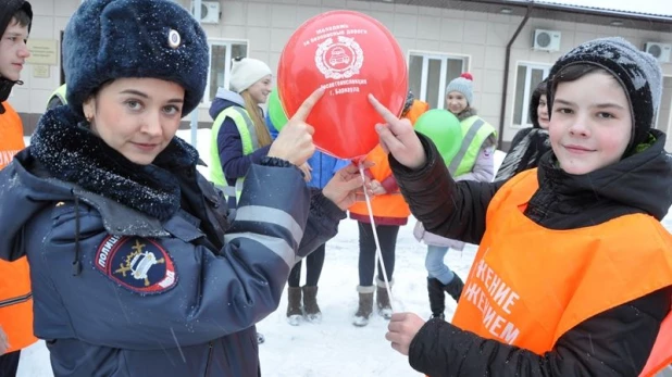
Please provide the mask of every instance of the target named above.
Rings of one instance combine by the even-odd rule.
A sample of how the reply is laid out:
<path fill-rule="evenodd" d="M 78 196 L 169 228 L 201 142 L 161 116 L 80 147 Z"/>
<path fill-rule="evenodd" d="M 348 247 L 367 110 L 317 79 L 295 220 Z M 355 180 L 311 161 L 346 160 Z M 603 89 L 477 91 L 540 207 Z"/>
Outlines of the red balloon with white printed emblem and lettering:
<path fill-rule="evenodd" d="M 401 48 L 375 18 L 352 11 L 322 13 L 291 35 L 279 59 L 277 87 L 291 117 L 319 87 L 326 91 L 308 116 L 315 147 L 339 159 L 366 155 L 377 143 L 383 118 L 366 96 L 373 93 L 399 115 L 408 93 Z"/>

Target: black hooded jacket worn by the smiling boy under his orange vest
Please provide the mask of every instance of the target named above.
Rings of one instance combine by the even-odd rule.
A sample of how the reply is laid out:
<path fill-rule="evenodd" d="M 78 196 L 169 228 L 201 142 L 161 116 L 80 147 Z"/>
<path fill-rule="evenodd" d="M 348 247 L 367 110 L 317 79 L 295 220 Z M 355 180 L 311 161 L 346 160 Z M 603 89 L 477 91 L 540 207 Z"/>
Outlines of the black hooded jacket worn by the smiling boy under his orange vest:
<path fill-rule="evenodd" d="M 656 142 L 645 151 L 581 176 L 564 173 L 547 153 L 539 164 L 539 189 L 525 215 L 551 229 L 590 226 L 631 213 L 661 219 L 672 204 L 672 161 L 663 150 L 664 135 L 651 134 Z M 434 144 L 420 137 L 427 153 L 424 167 L 410 171 L 390 155 L 411 212 L 428 231 L 480 243 L 487 206 L 505 181 L 453 181 Z M 432 377 L 637 376 L 670 311 L 671 294 L 668 287 L 588 318 L 544 355 L 432 319 L 413 339 L 409 362 Z"/>

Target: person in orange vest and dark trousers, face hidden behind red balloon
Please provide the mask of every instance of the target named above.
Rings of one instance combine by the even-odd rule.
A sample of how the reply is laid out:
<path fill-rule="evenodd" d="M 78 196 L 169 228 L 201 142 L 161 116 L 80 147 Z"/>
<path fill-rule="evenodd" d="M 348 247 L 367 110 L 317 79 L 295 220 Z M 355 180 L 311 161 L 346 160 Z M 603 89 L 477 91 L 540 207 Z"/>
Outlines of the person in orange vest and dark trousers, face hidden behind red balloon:
<path fill-rule="evenodd" d="M 401 116 L 414 123 L 427 109 L 427 103 L 415 100 L 413 95 L 409 92 Z M 369 153 L 365 160 L 372 161 L 375 164 L 365 169 L 365 174 L 371 179 L 371 190 L 374 194 L 371 200 L 373 218 L 381 244 L 381 255 L 385 264 L 385 273 L 391 285 L 395 271 L 397 235 L 399 234 L 399 227 L 407 224 L 410 211 L 399 192 L 395 177 L 391 175 L 389 164 L 387 163 L 387 154 L 383 148 L 377 146 Z M 359 227 L 359 286 L 357 287 L 359 305 L 352 324 L 363 327 L 369 324 L 369 318 L 373 313 L 374 292 L 376 293 L 378 314 L 383 317 L 389 319 L 391 316 L 391 305 L 379 263 L 377 266 L 376 287 L 373 285 L 373 275 L 376 269 L 376 244 L 373 238 L 373 227 L 366 203 L 364 201 L 356 202 L 350 206 L 349 212 L 350 218 L 356 219 Z"/>

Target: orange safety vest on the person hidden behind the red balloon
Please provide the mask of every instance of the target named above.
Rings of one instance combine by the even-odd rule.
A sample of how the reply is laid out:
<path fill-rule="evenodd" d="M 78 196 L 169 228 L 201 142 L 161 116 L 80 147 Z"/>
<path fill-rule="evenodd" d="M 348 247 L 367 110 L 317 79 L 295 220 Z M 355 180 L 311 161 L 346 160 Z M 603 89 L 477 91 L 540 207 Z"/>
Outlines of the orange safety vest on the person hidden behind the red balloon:
<path fill-rule="evenodd" d="M 415 100 L 405 117 L 411 121 L 412 124 L 415 124 L 418 117 L 428 109 L 430 105 L 426 102 Z M 375 165 L 370 167 L 374 179 L 383 181 L 391 175 L 387 153 L 385 153 L 379 144 L 369 152 L 365 160 L 375 162 Z M 376 217 L 407 218 L 411 214 L 409 205 L 399 191 L 371 198 L 371 209 L 373 210 L 373 215 Z M 369 216 L 366 202 L 356 202 L 348 210 L 354 214 Z"/>

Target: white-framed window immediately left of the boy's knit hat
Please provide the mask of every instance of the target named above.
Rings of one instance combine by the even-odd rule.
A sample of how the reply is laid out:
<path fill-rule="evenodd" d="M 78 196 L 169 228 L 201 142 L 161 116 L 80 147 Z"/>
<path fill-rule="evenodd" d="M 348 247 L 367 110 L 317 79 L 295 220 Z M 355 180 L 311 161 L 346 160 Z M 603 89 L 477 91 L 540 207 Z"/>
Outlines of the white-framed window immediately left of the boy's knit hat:
<path fill-rule="evenodd" d="M 513 126 L 532 127 L 530 121 L 530 97 L 550 71 L 550 65 L 519 63 L 515 78 L 515 102 L 513 102 Z"/>

